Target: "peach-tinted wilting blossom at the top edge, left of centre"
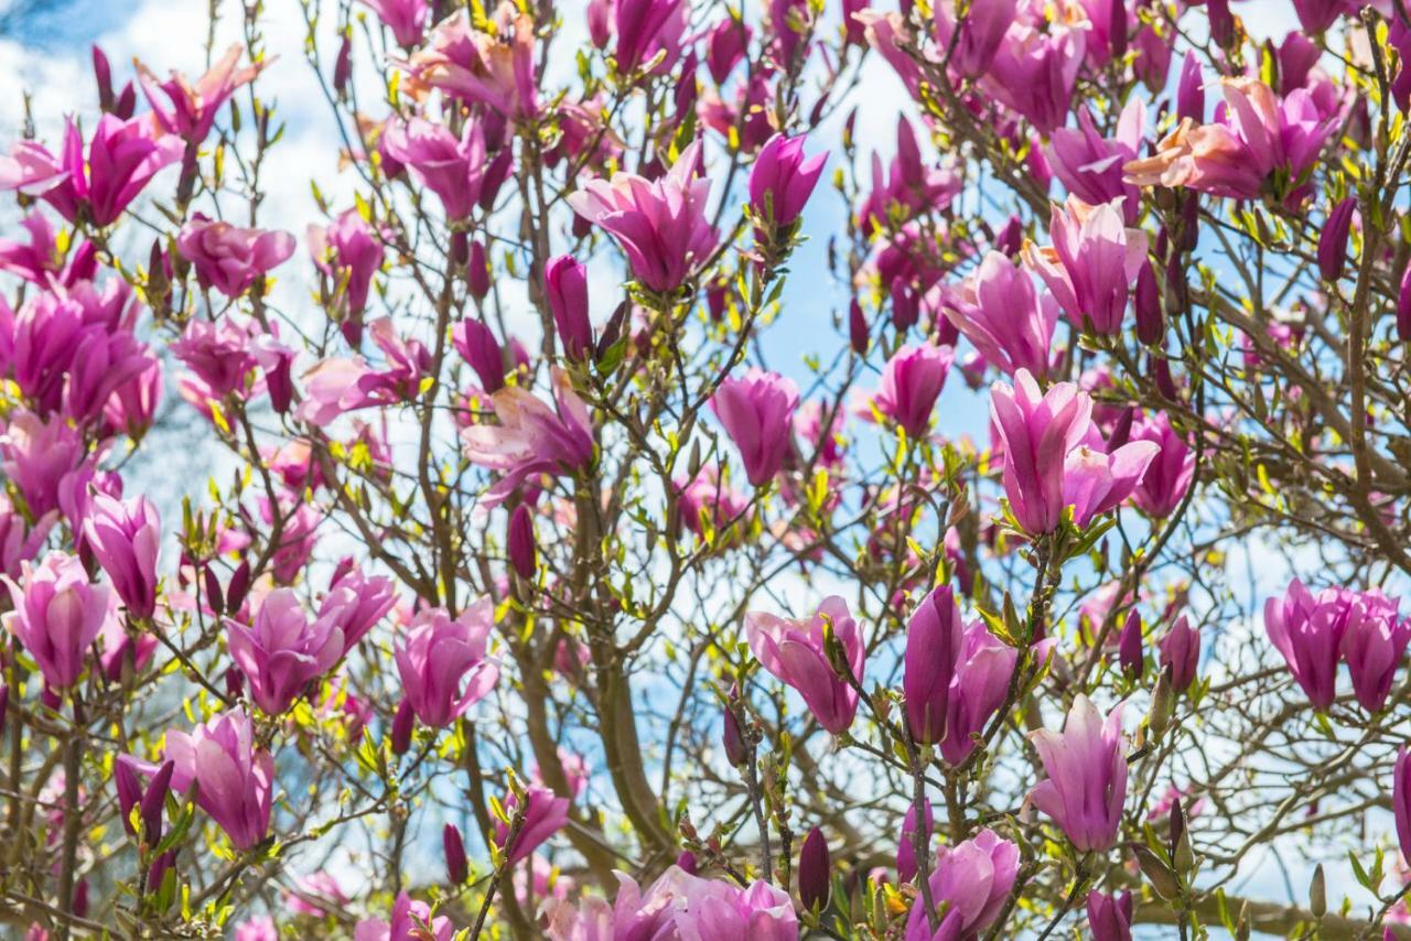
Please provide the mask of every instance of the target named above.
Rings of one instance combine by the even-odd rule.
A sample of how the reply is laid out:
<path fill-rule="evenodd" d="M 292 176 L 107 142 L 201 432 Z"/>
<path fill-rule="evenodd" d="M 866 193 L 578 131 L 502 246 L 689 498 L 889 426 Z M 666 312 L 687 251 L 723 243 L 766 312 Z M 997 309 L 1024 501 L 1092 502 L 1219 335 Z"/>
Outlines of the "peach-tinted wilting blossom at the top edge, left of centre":
<path fill-rule="evenodd" d="M 495 10 L 497 32 L 471 25 L 457 11 L 432 28 L 430 40 L 405 63 L 416 82 L 519 120 L 539 113 L 535 90 L 533 20 L 514 4 Z"/>

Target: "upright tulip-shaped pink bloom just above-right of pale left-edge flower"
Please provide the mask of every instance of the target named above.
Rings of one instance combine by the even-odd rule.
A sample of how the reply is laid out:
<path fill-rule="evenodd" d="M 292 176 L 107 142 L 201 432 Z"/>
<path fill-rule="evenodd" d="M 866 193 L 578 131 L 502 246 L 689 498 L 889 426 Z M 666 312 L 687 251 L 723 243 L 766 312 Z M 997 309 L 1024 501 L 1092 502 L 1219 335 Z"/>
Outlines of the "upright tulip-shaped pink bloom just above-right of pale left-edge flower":
<path fill-rule="evenodd" d="M 95 492 L 83 536 L 127 612 L 151 618 L 157 611 L 157 550 L 162 539 L 161 519 L 151 501 L 137 497 L 123 502 Z"/>

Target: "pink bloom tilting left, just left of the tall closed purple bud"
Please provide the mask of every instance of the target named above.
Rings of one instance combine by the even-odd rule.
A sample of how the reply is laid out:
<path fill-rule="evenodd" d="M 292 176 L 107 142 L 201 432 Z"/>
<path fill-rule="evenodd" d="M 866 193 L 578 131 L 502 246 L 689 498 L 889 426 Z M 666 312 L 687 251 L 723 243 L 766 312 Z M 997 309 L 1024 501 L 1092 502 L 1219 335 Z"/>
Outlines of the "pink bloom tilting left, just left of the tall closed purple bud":
<path fill-rule="evenodd" d="M 831 633 L 852 679 L 861 684 L 866 650 L 862 628 L 848 612 L 847 601 L 825 598 L 811 618 L 800 621 L 751 611 L 745 615 L 745 633 L 761 666 L 797 690 L 823 728 L 838 735 L 852 725 L 858 693 L 832 669 L 824 641 Z"/>

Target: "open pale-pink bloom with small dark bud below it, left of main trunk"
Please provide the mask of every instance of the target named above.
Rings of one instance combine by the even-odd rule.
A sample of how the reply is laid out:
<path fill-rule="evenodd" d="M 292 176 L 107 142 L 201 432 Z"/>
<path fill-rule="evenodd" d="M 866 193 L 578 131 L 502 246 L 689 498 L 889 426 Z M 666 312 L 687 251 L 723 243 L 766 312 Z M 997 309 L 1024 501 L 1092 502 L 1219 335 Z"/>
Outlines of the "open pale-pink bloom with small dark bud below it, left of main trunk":
<path fill-rule="evenodd" d="M 398 638 L 402 691 L 425 725 L 449 725 L 495 686 L 499 667 L 487 656 L 494 612 L 488 597 L 457 618 L 444 608 L 423 608 Z"/>

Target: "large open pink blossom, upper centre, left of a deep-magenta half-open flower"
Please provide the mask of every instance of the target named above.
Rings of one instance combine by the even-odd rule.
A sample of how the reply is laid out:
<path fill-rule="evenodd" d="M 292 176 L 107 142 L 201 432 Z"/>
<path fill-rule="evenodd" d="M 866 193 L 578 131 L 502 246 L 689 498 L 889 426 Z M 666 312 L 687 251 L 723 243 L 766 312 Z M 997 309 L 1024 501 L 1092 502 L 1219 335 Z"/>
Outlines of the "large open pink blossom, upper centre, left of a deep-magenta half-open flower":
<path fill-rule="evenodd" d="M 650 291 L 680 288 L 718 240 L 706 213 L 710 179 L 693 179 L 700 148 L 696 141 L 682 151 L 659 179 L 619 172 L 590 179 L 569 196 L 574 212 L 617 238 L 632 277 Z"/>

